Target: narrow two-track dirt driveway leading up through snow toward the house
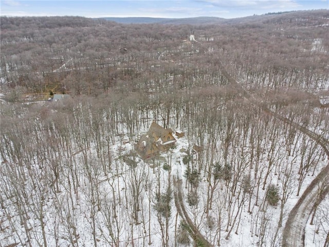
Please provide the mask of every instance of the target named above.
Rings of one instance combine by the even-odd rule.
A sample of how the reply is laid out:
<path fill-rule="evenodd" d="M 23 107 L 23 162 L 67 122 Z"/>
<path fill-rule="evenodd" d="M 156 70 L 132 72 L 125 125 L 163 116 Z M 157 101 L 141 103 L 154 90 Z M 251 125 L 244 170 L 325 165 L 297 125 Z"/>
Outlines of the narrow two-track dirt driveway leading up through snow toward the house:
<path fill-rule="evenodd" d="M 199 232 L 199 230 L 195 227 L 192 220 L 190 219 L 184 205 L 184 200 L 182 197 L 182 188 L 181 188 L 181 179 L 175 179 L 174 178 L 174 199 L 175 199 L 175 205 L 177 208 L 177 212 L 184 222 L 185 225 L 188 225 L 188 232 L 193 238 L 196 246 L 205 246 L 210 247 L 212 246 L 211 243 L 209 243 L 205 237 Z"/>

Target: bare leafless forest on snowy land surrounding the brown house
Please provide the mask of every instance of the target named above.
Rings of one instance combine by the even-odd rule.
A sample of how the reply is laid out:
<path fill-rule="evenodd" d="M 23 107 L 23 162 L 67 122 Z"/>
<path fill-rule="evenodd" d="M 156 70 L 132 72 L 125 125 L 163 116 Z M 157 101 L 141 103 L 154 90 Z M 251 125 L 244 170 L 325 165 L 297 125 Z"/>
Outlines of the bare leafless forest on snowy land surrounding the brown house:
<path fill-rule="evenodd" d="M 328 246 L 328 10 L 0 22 L 0 246 Z"/>

